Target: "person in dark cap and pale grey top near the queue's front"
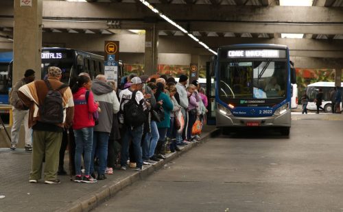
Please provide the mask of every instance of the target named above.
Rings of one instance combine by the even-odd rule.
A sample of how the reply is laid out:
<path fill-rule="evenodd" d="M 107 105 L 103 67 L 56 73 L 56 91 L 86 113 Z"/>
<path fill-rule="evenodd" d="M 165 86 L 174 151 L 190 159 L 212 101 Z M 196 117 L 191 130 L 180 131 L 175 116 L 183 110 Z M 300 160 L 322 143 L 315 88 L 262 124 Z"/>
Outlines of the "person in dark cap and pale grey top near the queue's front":
<path fill-rule="evenodd" d="M 187 137 L 186 137 L 187 122 L 188 122 L 188 120 L 187 120 L 187 108 L 189 105 L 187 91 L 186 91 L 187 83 L 188 83 L 188 77 L 186 75 L 180 75 L 180 78 L 178 79 L 178 83 L 176 84 L 176 90 L 178 90 L 178 96 L 180 98 L 181 113 L 182 113 L 182 116 L 185 120 L 185 127 L 182 131 L 182 134 L 180 134 L 180 133 L 176 134 L 176 144 L 178 144 L 178 145 L 188 144 L 188 142 L 186 142 L 186 140 L 187 140 Z M 182 140 L 184 140 L 184 141 L 182 141 Z"/>

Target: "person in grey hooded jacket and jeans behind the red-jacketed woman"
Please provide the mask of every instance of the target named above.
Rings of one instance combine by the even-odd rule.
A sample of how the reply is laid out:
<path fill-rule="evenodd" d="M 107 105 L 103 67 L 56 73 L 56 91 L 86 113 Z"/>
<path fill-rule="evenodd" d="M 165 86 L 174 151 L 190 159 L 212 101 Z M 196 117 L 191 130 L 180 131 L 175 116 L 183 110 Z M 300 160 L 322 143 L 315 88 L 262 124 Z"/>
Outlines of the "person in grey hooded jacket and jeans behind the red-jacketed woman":
<path fill-rule="evenodd" d="M 91 173 L 94 177 L 94 158 L 99 159 L 97 169 L 97 180 L 106 179 L 108 138 L 112 130 L 113 114 L 119 111 L 119 101 L 113 87 L 106 84 L 105 75 L 97 75 L 92 85 L 94 100 L 99 102 L 101 113 L 99 113 L 99 124 L 95 125 L 93 133 L 93 150 L 91 161 Z"/>

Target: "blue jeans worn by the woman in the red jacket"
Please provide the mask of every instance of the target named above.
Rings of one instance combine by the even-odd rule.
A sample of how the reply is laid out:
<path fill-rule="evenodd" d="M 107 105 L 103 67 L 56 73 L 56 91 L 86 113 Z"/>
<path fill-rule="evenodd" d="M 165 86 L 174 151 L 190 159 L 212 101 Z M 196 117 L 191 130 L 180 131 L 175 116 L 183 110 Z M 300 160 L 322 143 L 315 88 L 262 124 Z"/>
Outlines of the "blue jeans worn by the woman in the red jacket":
<path fill-rule="evenodd" d="M 75 136 L 75 174 L 81 175 L 81 157 L 84 153 L 84 175 L 89 175 L 93 148 L 93 127 L 74 130 Z"/>

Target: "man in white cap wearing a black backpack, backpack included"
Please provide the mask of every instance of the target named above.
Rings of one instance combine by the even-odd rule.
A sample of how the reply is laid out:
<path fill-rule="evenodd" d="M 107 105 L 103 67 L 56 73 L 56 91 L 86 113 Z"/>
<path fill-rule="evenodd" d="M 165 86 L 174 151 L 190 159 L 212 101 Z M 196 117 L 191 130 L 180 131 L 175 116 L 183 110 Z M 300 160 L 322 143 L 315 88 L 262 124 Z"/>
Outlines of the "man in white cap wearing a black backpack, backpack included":
<path fill-rule="evenodd" d="M 143 93 L 139 91 L 143 86 L 141 79 L 139 77 L 133 77 L 131 83 L 130 88 L 122 90 L 119 94 L 119 122 L 123 124 L 123 130 L 125 131 L 121 144 L 120 163 L 121 170 L 126 170 L 129 143 L 132 141 L 134 156 L 137 161 L 136 170 L 141 171 L 143 165 L 141 140 L 147 105 Z"/>

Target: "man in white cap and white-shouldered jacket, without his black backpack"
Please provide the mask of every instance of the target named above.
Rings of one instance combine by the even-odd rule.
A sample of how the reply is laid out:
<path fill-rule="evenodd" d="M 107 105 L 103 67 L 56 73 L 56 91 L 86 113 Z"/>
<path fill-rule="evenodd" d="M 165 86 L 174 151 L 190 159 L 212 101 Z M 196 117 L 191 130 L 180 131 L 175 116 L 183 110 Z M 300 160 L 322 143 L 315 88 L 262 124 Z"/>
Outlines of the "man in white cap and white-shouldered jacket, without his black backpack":
<path fill-rule="evenodd" d="M 136 170 L 141 171 L 143 166 L 143 158 L 142 158 L 142 148 L 141 148 L 141 140 L 143 135 L 143 124 L 139 127 L 131 127 L 126 126 L 124 123 L 123 118 L 123 106 L 128 103 L 128 101 L 132 98 L 132 92 L 137 91 L 135 100 L 137 101 L 138 105 L 143 107 L 143 110 L 147 110 L 147 104 L 145 103 L 145 99 L 143 93 L 140 91 L 143 87 L 143 83 L 139 77 L 133 77 L 131 79 L 130 88 L 122 90 L 119 94 L 120 98 L 120 112 L 119 112 L 119 122 L 123 124 L 123 138 L 121 140 L 121 170 L 126 170 L 127 168 L 127 161 L 129 157 L 129 144 L 132 141 L 132 147 L 134 150 L 134 157 L 135 161 L 137 161 Z"/>

